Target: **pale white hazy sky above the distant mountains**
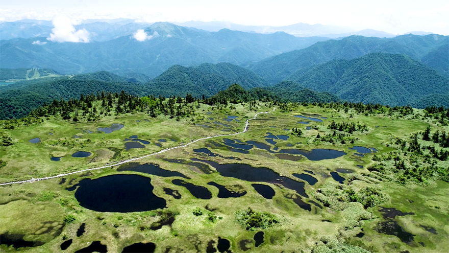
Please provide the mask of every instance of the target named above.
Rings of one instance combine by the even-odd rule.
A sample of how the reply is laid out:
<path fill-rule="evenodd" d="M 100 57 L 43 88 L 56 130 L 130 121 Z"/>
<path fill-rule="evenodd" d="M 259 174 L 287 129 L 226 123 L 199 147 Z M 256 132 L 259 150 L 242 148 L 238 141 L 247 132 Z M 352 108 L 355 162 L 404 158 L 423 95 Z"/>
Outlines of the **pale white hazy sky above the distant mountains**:
<path fill-rule="evenodd" d="M 156 21 L 228 21 L 242 25 L 335 25 L 392 34 L 412 31 L 449 35 L 449 1 L 396 0 L 0 0 L 0 21 L 132 18 Z"/>

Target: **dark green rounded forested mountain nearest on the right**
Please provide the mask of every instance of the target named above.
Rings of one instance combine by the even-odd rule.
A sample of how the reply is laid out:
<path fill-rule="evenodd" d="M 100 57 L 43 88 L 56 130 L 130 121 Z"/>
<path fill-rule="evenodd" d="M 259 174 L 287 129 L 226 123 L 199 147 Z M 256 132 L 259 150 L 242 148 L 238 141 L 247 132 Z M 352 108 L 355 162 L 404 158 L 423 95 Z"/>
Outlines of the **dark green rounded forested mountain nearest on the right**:
<path fill-rule="evenodd" d="M 405 55 L 372 53 L 297 71 L 288 80 L 349 102 L 404 106 L 449 90 L 449 80 Z"/>

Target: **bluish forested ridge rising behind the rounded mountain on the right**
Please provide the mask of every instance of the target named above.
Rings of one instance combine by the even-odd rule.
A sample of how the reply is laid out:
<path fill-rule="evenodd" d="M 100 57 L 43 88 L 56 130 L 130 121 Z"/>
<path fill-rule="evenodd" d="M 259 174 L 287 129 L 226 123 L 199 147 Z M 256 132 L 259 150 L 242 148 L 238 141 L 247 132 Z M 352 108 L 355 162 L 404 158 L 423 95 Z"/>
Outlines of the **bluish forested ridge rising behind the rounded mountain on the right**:
<path fill-rule="evenodd" d="M 301 68 L 334 59 L 354 59 L 368 53 L 405 54 L 441 73 L 449 71 L 449 36 L 402 35 L 394 38 L 350 36 L 317 42 L 308 48 L 264 59 L 250 69 L 270 83 L 277 83 Z"/>

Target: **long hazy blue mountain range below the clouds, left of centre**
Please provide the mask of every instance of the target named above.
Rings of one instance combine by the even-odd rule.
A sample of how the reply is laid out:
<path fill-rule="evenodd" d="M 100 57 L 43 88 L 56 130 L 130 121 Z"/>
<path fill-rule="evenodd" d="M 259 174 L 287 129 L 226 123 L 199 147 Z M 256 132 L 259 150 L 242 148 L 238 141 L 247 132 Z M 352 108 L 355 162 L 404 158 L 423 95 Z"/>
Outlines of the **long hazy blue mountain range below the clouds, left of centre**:
<path fill-rule="evenodd" d="M 137 41 L 133 35 L 89 43 L 59 43 L 47 41 L 46 37 L 3 40 L 0 67 L 51 68 L 62 74 L 119 69 L 121 73 L 128 70 L 154 78 L 174 64 L 244 64 L 327 39 L 297 38 L 284 32 L 257 34 L 228 29 L 204 32 L 166 22 L 155 23 L 145 32 L 144 41 Z M 46 43 L 33 44 L 38 40 Z"/>

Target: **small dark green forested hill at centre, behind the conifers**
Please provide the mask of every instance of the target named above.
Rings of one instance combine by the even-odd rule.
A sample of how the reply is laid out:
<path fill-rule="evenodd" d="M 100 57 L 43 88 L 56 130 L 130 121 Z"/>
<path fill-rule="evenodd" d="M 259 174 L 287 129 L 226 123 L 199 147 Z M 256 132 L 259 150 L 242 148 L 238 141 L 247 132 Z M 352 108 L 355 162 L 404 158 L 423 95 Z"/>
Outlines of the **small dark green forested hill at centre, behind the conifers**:
<path fill-rule="evenodd" d="M 153 95 L 210 97 L 233 83 L 246 89 L 267 86 L 254 72 L 230 63 L 204 63 L 195 67 L 174 65 L 146 86 Z"/>

